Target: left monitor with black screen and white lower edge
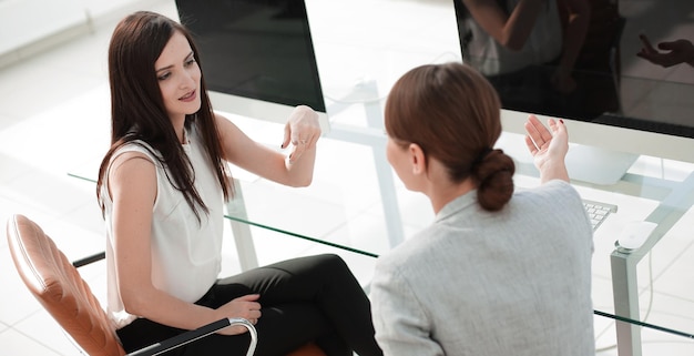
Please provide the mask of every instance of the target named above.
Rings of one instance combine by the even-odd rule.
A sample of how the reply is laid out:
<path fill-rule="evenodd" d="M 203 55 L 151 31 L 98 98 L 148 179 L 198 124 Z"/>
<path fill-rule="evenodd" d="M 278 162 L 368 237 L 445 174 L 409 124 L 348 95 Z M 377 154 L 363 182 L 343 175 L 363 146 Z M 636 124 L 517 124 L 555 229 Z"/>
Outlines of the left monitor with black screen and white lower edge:
<path fill-rule="evenodd" d="M 176 7 L 215 109 L 277 122 L 299 104 L 326 112 L 303 0 L 176 0 Z"/>

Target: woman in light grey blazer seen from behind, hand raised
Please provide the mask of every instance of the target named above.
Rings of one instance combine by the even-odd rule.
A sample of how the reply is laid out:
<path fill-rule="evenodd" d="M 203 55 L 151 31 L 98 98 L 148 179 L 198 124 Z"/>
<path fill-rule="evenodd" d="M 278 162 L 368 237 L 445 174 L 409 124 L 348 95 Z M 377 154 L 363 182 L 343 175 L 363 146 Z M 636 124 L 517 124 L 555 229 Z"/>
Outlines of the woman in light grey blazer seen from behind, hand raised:
<path fill-rule="evenodd" d="M 385 355 L 594 355 L 592 228 L 568 183 L 564 123 L 534 115 L 540 186 L 514 191 L 493 88 L 461 63 L 412 69 L 386 104 L 388 161 L 433 223 L 377 263 Z"/>

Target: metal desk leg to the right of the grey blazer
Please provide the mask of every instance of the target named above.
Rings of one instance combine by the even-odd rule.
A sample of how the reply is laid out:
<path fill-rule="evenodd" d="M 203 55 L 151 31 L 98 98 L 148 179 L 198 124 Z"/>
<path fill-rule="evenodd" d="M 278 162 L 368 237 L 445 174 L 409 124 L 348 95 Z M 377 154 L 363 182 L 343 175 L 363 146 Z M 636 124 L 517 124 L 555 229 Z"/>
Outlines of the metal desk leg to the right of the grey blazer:
<path fill-rule="evenodd" d="M 629 257 L 629 254 L 618 251 L 610 257 L 614 314 L 639 321 L 637 258 Z M 641 356 L 641 326 L 620 321 L 615 323 L 618 355 Z"/>

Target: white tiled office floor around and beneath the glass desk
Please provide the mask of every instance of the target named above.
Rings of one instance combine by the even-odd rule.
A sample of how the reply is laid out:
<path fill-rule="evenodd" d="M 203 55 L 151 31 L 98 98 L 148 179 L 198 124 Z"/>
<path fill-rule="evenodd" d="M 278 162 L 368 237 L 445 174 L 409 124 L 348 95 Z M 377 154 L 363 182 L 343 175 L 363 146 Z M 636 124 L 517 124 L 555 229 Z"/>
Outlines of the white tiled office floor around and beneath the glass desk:
<path fill-rule="evenodd" d="M 340 13 L 343 27 L 326 23 L 329 17 L 314 17 L 312 28 L 349 29 L 317 31 L 316 54 L 327 82 L 349 83 L 325 88 L 327 104 L 339 104 L 345 88 L 376 80 L 387 88 L 401 72 L 415 64 L 458 59 L 457 34 L 450 31 L 452 18 L 447 1 L 399 1 L 398 20 L 381 21 L 394 0 L 368 1 L 313 0 L 312 13 Z M 146 9 L 176 18 L 173 1 L 150 1 Z M 361 3 L 361 7 L 355 6 Z M 359 18 L 354 26 L 350 18 Z M 367 24 L 378 31 L 367 33 Z M 105 74 L 105 50 L 114 22 L 103 21 L 93 33 L 0 69 L 0 221 L 21 213 L 40 223 L 69 258 L 82 257 L 103 248 L 102 220 L 91 182 L 68 173 L 95 175 L 95 164 L 109 142 L 109 94 Z M 381 41 L 374 33 L 399 34 L 398 41 Z M 347 39 L 361 35 L 359 50 L 345 49 Z M 427 39 L 414 41 L 412 39 Z M 384 48 L 382 43 L 389 43 Z M 415 43 L 415 44 L 412 44 Z M 318 45 L 320 44 L 320 45 Z M 343 45 L 338 45 L 343 44 Z M 443 49 L 443 50 L 442 50 Z M 357 53 L 357 54 L 355 54 Z M 327 60 L 327 59 L 338 60 Z M 375 64 L 376 63 L 376 64 Z M 376 69 L 374 69 L 376 68 Z M 382 93 L 379 93 L 382 99 Z M 355 119 L 356 118 L 356 119 Z M 363 120 L 364 111 L 351 105 L 335 115 L 335 122 Z M 253 138 L 268 144 L 280 140 L 274 124 L 242 118 L 234 120 Z M 275 130 L 276 129 L 276 130 Z M 379 200 L 374 153 L 370 148 L 328 138 L 320 141 L 316 179 L 307 189 L 285 189 L 241 171 L 246 208 L 252 220 L 308 236 L 348 244 L 377 254 L 388 248 L 387 227 Z M 673 181 L 686 179 L 688 164 L 642 159 L 632 170 Z M 535 184 L 533 177 L 519 176 L 520 186 Z M 421 228 L 431 220 L 427 201 L 407 192 L 397 182 L 398 211 L 405 222 L 405 235 Z M 630 194 L 604 193 L 579 186 L 586 199 L 608 201 L 620 206 L 595 236 L 595 308 L 610 311 L 613 305 L 609 254 L 610 236 L 627 218 L 643 218 L 656 203 Z M 654 193 L 655 194 L 655 193 Z M 392 202 L 389 202 L 392 203 Z M 694 332 L 694 240 L 692 212 L 686 212 L 673 231 L 639 264 L 641 313 L 646 322 Z M 276 232 L 252 228 L 259 263 L 320 251 L 338 252 Z M 232 236 L 225 246 L 224 273 L 239 269 Z M 366 285 L 374 258 L 339 252 Z M 98 296 L 104 293 L 103 264 L 84 267 L 82 273 Z M 0 349 L 3 355 L 78 355 L 60 328 L 29 295 L 19 279 L 0 238 Z M 646 313 L 649 313 L 646 315 Z M 599 355 L 616 355 L 614 323 L 596 317 Z M 643 330 L 644 355 L 692 355 L 694 342 L 664 332 Z"/>

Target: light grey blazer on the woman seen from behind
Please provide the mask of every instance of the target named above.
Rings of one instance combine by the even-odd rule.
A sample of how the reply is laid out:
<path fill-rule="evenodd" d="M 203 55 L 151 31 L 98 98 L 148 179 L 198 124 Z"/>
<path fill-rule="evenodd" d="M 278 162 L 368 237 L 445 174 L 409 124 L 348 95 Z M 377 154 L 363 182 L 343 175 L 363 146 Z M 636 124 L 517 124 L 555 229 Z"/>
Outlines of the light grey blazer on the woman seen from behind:
<path fill-rule="evenodd" d="M 594 353 L 592 232 L 580 208 L 561 181 L 501 212 L 482 211 L 474 192 L 447 205 L 378 262 L 370 297 L 386 354 Z"/>

